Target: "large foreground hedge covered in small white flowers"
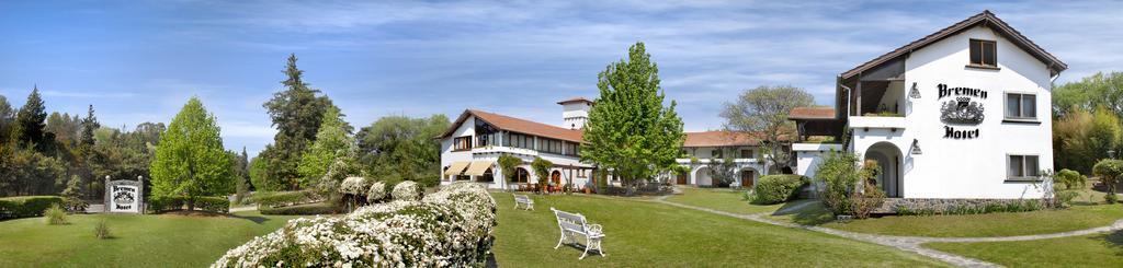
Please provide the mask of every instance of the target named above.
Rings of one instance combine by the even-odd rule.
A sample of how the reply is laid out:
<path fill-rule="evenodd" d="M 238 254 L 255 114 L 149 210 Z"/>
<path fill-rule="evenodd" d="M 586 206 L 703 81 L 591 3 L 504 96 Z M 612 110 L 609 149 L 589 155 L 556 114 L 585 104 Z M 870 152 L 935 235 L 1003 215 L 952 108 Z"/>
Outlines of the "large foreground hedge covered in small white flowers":
<path fill-rule="evenodd" d="M 458 183 L 421 201 L 289 221 L 211 267 L 474 267 L 486 260 L 494 227 L 495 201 L 487 191 Z"/>

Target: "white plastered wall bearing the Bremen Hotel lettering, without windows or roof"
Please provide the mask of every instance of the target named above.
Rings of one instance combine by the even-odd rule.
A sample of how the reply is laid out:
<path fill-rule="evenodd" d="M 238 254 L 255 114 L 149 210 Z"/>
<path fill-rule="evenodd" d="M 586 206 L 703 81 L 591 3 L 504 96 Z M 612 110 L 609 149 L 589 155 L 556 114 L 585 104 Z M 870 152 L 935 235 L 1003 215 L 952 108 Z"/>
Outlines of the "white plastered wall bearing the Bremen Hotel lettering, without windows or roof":
<path fill-rule="evenodd" d="M 970 38 L 997 40 L 1001 70 L 966 67 Z M 904 197 L 925 198 L 1039 198 L 1043 192 L 1030 183 L 1006 182 L 1007 154 L 1038 155 L 1039 167 L 1052 166 L 1049 70 L 1040 61 L 1002 38 L 989 28 L 977 27 L 915 50 L 905 61 L 905 86 L 916 83 L 921 99 L 907 99 L 906 128 L 855 129 L 853 149 L 865 154 L 876 142 L 889 142 L 904 155 Z M 985 119 L 978 126 L 950 124 L 957 129 L 979 129 L 974 139 L 944 138 L 940 121 L 942 103 L 937 85 L 987 91 L 982 101 Z M 1040 124 L 1003 122 L 1006 92 L 1037 94 Z M 920 141 L 922 155 L 909 154 L 912 140 Z M 802 159 L 802 158 L 801 158 Z M 801 163 L 802 164 L 802 163 Z M 802 165 L 801 165 L 802 166 Z M 801 167 L 802 169 L 802 167 Z"/>

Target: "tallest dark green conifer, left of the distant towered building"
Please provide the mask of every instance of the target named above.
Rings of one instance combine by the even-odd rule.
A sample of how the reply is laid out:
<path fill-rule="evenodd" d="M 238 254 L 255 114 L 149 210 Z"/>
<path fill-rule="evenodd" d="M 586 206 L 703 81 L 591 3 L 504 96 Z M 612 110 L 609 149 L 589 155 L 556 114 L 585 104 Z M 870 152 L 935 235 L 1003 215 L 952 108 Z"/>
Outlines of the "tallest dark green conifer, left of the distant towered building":
<path fill-rule="evenodd" d="M 266 146 L 258 157 L 266 159 L 263 175 L 272 190 L 300 188 L 298 172 L 307 147 L 316 140 L 323 114 L 335 107 L 326 95 L 318 95 L 304 83 L 304 71 L 296 68 L 296 55 L 289 55 L 285 65 L 286 78 L 281 82 L 284 90 L 273 94 L 263 107 L 267 110 L 273 127 L 277 129 L 273 145 Z"/>

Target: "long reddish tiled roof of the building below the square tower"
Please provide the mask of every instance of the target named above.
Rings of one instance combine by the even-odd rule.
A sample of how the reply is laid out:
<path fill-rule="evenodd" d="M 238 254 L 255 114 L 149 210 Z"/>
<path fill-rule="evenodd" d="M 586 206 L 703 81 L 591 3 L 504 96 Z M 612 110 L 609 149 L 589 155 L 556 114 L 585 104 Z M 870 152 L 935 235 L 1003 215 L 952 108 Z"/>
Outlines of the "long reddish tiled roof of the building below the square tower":
<path fill-rule="evenodd" d="M 445 133 L 442 133 L 439 138 L 447 138 L 448 136 L 453 135 L 453 132 L 455 132 L 456 129 L 459 128 L 459 126 L 463 124 L 464 121 L 467 120 L 469 115 L 475 115 L 476 119 L 483 120 L 484 122 L 487 122 L 494 126 L 495 128 L 502 130 L 533 135 L 545 138 L 567 140 L 573 142 L 582 142 L 582 135 L 584 133 L 581 130 L 566 129 L 526 119 L 512 118 L 503 114 L 468 109 L 465 110 L 464 113 L 460 113 L 460 117 L 457 118 L 456 121 L 453 122 L 453 124 L 448 128 L 448 130 L 446 130 Z"/>

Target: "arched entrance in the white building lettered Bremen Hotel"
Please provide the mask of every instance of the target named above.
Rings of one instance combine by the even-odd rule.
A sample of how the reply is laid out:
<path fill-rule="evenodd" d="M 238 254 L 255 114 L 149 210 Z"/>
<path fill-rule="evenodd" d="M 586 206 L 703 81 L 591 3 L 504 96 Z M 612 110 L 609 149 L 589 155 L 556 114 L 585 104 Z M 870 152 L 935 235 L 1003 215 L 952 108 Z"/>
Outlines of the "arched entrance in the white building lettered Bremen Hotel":
<path fill-rule="evenodd" d="M 901 164 L 904 159 L 901 149 L 889 142 L 877 142 L 866 149 L 865 156 L 866 165 L 876 164 L 880 167 L 870 183 L 884 191 L 886 197 L 902 197 L 904 174 Z"/>

